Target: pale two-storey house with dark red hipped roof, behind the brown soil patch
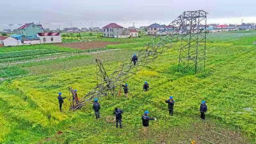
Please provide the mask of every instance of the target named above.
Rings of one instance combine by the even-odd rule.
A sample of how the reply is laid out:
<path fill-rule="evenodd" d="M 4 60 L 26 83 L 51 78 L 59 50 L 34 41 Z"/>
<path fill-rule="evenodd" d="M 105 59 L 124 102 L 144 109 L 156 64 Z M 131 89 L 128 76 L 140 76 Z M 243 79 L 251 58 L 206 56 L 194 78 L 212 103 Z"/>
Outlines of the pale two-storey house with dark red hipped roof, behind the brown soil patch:
<path fill-rule="evenodd" d="M 123 34 L 124 27 L 119 26 L 116 23 L 108 24 L 102 27 L 103 37 L 118 37 Z"/>

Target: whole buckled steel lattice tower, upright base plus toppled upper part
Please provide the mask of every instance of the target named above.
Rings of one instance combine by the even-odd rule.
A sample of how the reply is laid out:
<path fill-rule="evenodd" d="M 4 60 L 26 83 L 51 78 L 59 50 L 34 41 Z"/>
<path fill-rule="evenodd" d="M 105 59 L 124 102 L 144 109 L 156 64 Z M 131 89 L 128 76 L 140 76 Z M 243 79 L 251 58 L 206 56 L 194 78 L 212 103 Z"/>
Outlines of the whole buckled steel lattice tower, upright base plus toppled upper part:
<path fill-rule="evenodd" d="M 94 97 L 116 95 L 116 89 L 120 88 L 130 75 L 136 73 L 137 67 L 153 61 L 178 41 L 180 42 L 179 69 L 193 67 L 196 73 L 199 63 L 205 65 L 206 14 L 207 12 L 204 10 L 183 12 L 137 52 L 138 61 L 136 64 L 128 59 L 110 75 L 106 73 L 102 61 L 96 59 L 96 75 L 100 83 L 82 97 L 79 104 L 72 109 L 82 107 Z"/>

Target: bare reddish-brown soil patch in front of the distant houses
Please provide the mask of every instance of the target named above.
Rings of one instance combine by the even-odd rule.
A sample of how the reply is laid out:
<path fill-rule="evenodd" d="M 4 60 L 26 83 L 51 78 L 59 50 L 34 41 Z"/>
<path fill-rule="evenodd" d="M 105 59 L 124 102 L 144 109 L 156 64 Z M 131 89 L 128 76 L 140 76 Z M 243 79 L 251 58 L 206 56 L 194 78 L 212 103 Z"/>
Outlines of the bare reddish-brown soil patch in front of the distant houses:
<path fill-rule="evenodd" d="M 87 41 L 87 42 L 74 42 L 74 43 L 56 43 L 54 45 L 60 47 L 71 47 L 75 49 L 96 49 L 106 47 L 106 45 L 116 45 L 120 43 L 107 42 L 107 41 Z"/>

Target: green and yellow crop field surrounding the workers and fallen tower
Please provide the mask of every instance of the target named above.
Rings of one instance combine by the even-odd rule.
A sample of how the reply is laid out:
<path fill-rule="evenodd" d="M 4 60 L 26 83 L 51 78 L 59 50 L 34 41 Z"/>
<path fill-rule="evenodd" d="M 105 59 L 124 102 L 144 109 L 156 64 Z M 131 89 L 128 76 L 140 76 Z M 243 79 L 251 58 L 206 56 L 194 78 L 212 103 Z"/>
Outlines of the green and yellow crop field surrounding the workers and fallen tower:
<path fill-rule="evenodd" d="M 128 98 L 123 94 L 100 97 L 99 120 L 92 102 L 72 111 L 65 99 L 60 112 L 58 92 L 69 97 L 68 87 L 73 87 L 78 97 L 84 96 L 97 84 L 95 58 L 111 73 L 152 36 L 88 38 L 90 43 L 110 42 L 96 49 L 76 49 L 66 43 L 1 48 L 0 143 L 256 143 L 256 31 L 207 37 L 204 72 L 179 72 L 179 45 L 174 45 L 124 82 Z M 148 92 L 142 90 L 144 81 L 149 83 Z M 168 115 L 164 102 L 170 95 L 174 116 Z M 206 122 L 200 119 L 202 99 L 208 106 Z M 115 107 L 124 110 L 124 128 L 115 127 Z M 145 110 L 158 119 L 150 121 L 147 135 L 141 122 Z"/>

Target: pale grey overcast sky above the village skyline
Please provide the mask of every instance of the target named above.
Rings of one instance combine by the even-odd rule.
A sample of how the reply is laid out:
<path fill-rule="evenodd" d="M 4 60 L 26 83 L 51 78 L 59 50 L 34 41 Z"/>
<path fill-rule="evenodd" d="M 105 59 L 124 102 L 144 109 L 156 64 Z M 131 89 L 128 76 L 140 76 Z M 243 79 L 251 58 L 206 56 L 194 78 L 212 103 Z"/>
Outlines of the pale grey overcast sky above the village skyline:
<path fill-rule="evenodd" d="M 205 10 L 208 23 L 256 23 L 256 0 L 1 0 L 0 30 L 4 24 L 41 22 L 44 28 L 169 24 L 182 12 Z M 82 23 L 82 24 L 77 24 Z M 12 26 L 17 28 L 18 26 Z"/>

